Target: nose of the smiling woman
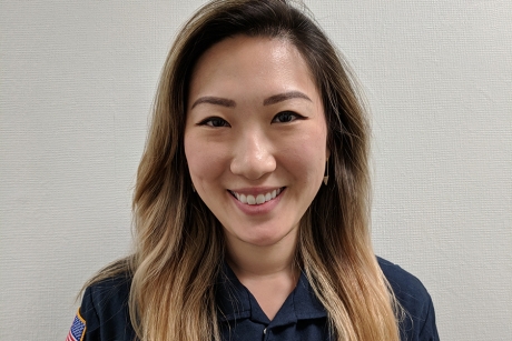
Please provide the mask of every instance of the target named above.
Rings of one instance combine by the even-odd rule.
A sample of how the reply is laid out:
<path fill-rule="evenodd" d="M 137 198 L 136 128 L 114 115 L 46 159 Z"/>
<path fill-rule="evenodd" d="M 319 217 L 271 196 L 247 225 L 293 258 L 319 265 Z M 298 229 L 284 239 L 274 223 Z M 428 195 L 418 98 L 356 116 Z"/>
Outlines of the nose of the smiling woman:
<path fill-rule="evenodd" d="M 259 131 L 245 131 L 234 146 L 230 171 L 248 180 L 258 180 L 276 169 L 273 143 Z"/>

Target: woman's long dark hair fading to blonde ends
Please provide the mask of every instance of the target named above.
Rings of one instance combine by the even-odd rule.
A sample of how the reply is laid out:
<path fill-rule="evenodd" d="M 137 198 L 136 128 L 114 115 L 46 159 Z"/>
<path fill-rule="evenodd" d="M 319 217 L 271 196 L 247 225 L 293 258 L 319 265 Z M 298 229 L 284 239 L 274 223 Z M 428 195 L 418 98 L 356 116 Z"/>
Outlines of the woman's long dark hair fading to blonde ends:
<path fill-rule="evenodd" d="M 197 60 L 237 34 L 288 40 L 322 96 L 333 180 L 301 220 L 296 258 L 327 311 L 334 340 L 397 341 L 400 307 L 370 238 L 365 111 L 341 54 L 305 8 L 287 0 L 215 0 L 183 27 L 163 69 L 137 173 L 135 252 L 91 282 L 132 275 L 130 317 L 142 341 L 220 340 L 215 282 L 225 241 L 220 223 L 193 192 L 184 131 Z"/>

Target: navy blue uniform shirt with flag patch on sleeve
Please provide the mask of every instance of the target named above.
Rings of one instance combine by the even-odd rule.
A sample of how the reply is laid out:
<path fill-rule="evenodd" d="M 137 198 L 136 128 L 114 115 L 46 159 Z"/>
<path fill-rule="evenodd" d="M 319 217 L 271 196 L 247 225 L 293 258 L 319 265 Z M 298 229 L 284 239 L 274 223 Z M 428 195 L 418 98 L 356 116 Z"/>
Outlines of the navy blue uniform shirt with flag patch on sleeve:
<path fill-rule="evenodd" d="M 420 280 L 381 258 L 378 264 L 407 312 L 401 339 L 439 340 L 432 300 Z M 71 329 L 77 340 L 135 340 L 128 311 L 130 282 L 128 277 L 117 277 L 87 288 Z M 219 277 L 216 300 L 223 340 L 329 340 L 326 311 L 304 273 L 272 321 L 227 265 Z"/>

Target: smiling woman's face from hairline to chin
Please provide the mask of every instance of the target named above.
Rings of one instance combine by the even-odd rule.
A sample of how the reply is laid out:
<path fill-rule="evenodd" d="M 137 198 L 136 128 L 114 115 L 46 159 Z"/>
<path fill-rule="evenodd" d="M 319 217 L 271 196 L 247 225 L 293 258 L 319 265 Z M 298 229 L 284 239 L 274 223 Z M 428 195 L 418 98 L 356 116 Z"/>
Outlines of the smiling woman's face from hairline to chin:
<path fill-rule="evenodd" d="M 237 36 L 197 62 L 185 154 L 228 245 L 295 240 L 322 183 L 326 140 L 319 93 L 286 40 Z"/>

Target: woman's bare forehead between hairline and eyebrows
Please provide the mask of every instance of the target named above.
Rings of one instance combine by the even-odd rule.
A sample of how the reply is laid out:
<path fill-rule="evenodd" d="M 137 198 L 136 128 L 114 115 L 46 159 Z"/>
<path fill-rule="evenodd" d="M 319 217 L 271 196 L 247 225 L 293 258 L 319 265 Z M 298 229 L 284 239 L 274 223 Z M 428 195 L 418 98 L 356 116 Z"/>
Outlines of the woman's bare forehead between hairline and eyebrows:
<path fill-rule="evenodd" d="M 293 43 L 283 38 L 235 36 L 214 44 L 199 58 L 189 94 L 221 90 L 283 91 L 297 87 L 316 92 L 309 67 Z"/>

